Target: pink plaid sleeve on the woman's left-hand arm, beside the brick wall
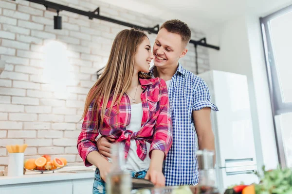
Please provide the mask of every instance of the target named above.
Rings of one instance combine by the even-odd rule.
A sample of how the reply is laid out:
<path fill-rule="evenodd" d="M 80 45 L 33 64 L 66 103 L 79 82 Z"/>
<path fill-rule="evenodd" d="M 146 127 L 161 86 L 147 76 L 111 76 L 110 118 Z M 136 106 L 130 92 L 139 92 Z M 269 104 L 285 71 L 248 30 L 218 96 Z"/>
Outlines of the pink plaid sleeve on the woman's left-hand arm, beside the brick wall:
<path fill-rule="evenodd" d="M 92 164 L 86 160 L 87 155 L 91 151 L 98 151 L 96 146 L 96 137 L 98 136 L 98 125 L 96 126 L 96 113 L 92 113 L 92 107 L 94 100 L 91 102 L 88 112 L 86 113 L 81 132 L 77 140 L 77 150 L 82 158 L 85 166 L 91 166 Z"/>

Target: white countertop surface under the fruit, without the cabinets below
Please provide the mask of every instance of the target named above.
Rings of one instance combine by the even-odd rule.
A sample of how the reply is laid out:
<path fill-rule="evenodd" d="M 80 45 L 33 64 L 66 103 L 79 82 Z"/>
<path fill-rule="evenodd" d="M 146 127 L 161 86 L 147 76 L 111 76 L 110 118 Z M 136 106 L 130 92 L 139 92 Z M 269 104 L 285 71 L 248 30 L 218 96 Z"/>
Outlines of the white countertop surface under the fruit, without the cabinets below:
<path fill-rule="evenodd" d="M 94 170 L 93 167 L 73 166 L 64 167 L 55 173 L 40 174 L 40 172 L 26 171 L 25 175 L 20 177 L 0 177 L 0 185 L 94 178 Z"/>

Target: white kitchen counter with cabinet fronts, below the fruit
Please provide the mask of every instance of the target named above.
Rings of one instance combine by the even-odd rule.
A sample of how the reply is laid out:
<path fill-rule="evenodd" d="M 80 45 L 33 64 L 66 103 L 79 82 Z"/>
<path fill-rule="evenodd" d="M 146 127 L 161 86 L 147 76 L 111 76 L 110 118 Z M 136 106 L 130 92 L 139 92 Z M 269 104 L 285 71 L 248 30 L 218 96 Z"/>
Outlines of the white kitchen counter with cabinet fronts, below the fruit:
<path fill-rule="evenodd" d="M 0 177 L 0 194 L 92 194 L 95 168 L 64 167 L 53 172 L 26 171 L 20 177 Z"/>

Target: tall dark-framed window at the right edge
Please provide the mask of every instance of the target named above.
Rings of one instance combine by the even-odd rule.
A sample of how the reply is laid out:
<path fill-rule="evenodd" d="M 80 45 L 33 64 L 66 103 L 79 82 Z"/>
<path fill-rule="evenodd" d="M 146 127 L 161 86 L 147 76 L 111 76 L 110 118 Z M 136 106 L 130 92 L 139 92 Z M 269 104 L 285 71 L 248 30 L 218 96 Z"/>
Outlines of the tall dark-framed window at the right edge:
<path fill-rule="evenodd" d="M 278 156 L 292 168 L 292 5 L 260 18 Z"/>

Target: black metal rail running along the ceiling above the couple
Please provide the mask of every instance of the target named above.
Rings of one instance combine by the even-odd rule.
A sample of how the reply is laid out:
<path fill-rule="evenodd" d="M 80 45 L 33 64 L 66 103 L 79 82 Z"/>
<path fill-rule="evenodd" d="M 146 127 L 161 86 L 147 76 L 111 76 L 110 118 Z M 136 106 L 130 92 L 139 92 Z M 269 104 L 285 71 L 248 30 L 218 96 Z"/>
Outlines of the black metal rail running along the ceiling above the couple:
<path fill-rule="evenodd" d="M 15 0 L 13 0 L 13 1 L 15 1 Z M 128 23 L 128 22 L 120 21 L 120 20 L 117 20 L 117 19 L 113 19 L 113 18 L 110 18 L 110 17 L 101 16 L 99 7 L 96 8 L 92 12 L 90 12 L 90 11 L 86 12 L 86 11 L 83 11 L 83 10 L 75 9 L 73 7 L 69 7 L 69 6 L 66 6 L 66 5 L 58 4 L 58 3 L 51 2 L 51 1 L 48 1 L 48 0 L 27 0 L 27 1 L 44 5 L 47 8 L 47 10 L 50 10 L 50 11 L 54 11 L 55 10 L 56 12 L 60 12 L 60 11 L 64 10 L 64 11 L 68 11 L 68 12 L 71 12 L 71 13 L 79 14 L 79 15 L 82 15 L 82 16 L 88 16 L 89 19 L 93 19 L 93 18 L 101 19 L 101 20 L 108 21 L 108 22 L 111 22 L 111 23 L 127 26 L 127 27 L 130 27 L 130 28 L 136 28 L 136 29 L 144 30 L 144 31 L 147 31 L 149 33 L 156 33 L 157 34 L 158 31 L 159 31 L 159 25 L 158 24 L 156 26 L 154 26 L 154 27 L 143 27 L 143 26 L 131 24 L 131 23 Z M 207 44 L 206 43 L 206 38 L 202 38 L 199 41 L 190 40 L 190 43 L 194 44 L 196 49 L 197 49 L 197 45 L 200 45 L 202 47 L 211 48 L 211 49 L 216 49 L 216 50 L 220 49 L 218 46 Z M 97 78 L 101 75 L 101 73 L 99 73 L 99 72 L 102 69 L 100 69 L 99 71 L 96 72 Z M 197 67 L 197 71 L 198 71 L 198 67 Z"/>

